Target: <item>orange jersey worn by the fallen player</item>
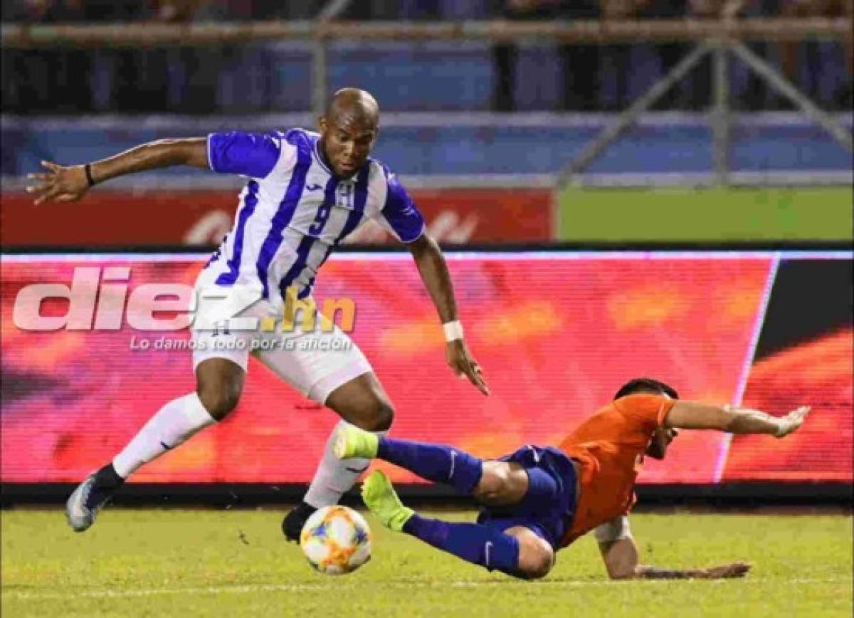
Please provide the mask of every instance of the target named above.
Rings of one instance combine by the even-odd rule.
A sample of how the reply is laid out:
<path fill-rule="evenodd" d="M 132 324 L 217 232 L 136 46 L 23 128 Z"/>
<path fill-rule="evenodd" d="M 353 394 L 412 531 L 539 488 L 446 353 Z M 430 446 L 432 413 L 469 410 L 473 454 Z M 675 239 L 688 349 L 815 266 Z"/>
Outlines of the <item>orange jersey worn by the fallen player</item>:
<path fill-rule="evenodd" d="M 635 479 L 644 452 L 674 403 L 660 395 L 621 397 L 560 443 L 560 450 L 578 463 L 579 473 L 576 515 L 561 547 L 629 512 L 635 503 Z"/>

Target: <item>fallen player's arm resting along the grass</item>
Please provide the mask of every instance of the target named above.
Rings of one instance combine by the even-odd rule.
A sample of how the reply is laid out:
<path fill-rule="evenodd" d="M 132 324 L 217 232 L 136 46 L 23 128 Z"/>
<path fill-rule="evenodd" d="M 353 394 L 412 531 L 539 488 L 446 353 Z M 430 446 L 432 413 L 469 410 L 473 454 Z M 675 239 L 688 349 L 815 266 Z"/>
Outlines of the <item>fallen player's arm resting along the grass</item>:
<path fill-rule="evenodd" d="M 744 577 L 751 568 L 746 562 L 712 568 L 660 568 L 640 564 L 629 520 L 624 515 L 597 527 L 595 535 L 611 580 L 721 580 Z"/>

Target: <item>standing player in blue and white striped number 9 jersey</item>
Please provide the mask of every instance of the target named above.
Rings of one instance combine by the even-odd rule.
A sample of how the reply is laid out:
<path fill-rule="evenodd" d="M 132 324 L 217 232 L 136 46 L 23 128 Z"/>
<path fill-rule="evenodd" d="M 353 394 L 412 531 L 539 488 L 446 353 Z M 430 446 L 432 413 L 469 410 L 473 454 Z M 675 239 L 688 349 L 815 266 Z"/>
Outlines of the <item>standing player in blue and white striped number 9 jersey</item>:
<path fill-rule="evenodd" d="M 242 310 L 249 305 L 239 315 L 254 318 L 280 318 L 289 290 L 299 299 L 309 297 L 330 251 L 363 222 L 378 221 L 412 252 L 444 325 L 448 365 L 488 394 L 481 368 L 463 339 L 442 251 L 425 232 L 422 216 L 395 174 L 369 157 L 378 129 L 377 102 L 366 91 L 348 88 L 331 97 L 319 118 L 319 133 L 299 128 L 221 132 L 142 144 L 85 165 L 44 162 L 43 174 L 30 174 L 33 184 L 27 191 L 36 195 L 36 203 L 71 202 L 116 176 L 176 165 L 243 175 L 247 182 L 234 227 L 199 275 L 196 291 L 225 298 L 219 307 Z M 217 321 L 214 314 L 209 321 Z M 337 327 L 333 335 L 347 338 Z M 237 406 L 250 346 L 228 343 L 262 336 L 257 331 L 194 330 L 196 391 L 166 403 L 111 462 L 73 492 L 67 517 L 75 531 L 91 527 L 98 510 L 138 468 Z M 334 351 L 283 348 L 262 348 L 256 355 L 281 379 L 340 415 L 339 427 L 351 423 L 379 434 L 389 430 L 392 403 L 355 344 Z M 290 540 L 298 539 L 314 510 L 336 503 L 367 467 L 366 461 L 343 462 L 331 449 L 330 439 L 303 502 L 283 521 Z"/>

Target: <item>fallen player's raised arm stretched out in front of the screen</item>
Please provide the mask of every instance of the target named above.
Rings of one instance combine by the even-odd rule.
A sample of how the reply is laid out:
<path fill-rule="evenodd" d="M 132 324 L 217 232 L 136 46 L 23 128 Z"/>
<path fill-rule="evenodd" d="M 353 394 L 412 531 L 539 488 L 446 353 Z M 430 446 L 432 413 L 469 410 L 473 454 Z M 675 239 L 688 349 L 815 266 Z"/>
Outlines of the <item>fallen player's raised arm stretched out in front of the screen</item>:
<path fill-rule="evenodd" d="M 664 426 L 717 429 L 728 433 L 767 433 L 782 438 L 797 430 L 809 412 L 809 406 L 801 406 L 785 416 L 771 416 L 755 409 L 677 401 L 664 419 Z"/>

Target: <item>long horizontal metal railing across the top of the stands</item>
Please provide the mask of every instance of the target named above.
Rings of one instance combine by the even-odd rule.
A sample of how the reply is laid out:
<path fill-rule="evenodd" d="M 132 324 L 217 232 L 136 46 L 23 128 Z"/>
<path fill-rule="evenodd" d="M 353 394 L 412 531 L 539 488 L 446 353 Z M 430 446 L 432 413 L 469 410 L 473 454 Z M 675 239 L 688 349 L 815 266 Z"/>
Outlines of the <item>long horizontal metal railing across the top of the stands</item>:
<path fill-rule="evenodd" d="M 2 26 L 3 47 L 56 45 L 204 45 L 325 38 L 356 40 L 454 40 L 561 43 L 732 40 L 799 41 L 851 38 L 846 19 L 636 20 L 636 21 L 243 21 L 130 22 L 120 24 L 20 24 Z"/>

